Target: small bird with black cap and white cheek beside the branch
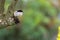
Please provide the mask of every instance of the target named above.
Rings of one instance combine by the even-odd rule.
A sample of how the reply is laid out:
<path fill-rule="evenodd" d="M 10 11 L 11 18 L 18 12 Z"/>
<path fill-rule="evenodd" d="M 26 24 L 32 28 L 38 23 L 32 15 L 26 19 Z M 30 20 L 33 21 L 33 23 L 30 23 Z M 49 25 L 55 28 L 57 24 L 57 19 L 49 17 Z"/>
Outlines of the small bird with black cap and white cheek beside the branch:
<path fill-rule="evenodd" d="M 18 24 L 21 22 L 22 16 L 23 16 L 22 10 L 17 10 L 14 12 L 13 19 L 14 19 L 15 24 Z"/>

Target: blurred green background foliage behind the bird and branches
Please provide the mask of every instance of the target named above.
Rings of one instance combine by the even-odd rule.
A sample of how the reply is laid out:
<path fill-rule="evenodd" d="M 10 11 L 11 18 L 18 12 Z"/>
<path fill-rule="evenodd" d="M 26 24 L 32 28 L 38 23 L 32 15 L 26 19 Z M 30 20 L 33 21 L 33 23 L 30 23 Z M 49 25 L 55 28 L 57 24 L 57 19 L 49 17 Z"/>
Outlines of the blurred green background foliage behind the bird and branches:
<path fill-rule="evenodd" d="M 4 13 L 8 10 L 11 2 L 12 0 L 5 1 Z M 14 11 L 22 9 L 24 15 L 17 40 L 56 40 L 57 27 L 60 24 L 60 13 L 59 8 L 52 3 L 50 0 L 18 0 Z M 10 14 L 8 13 L 8 15 Z M 16 24 L 12 22 L 10 24 L 8 30 L 6 30 L 6 27 L 0 28 L 1 40 L 15 40 Z"/>

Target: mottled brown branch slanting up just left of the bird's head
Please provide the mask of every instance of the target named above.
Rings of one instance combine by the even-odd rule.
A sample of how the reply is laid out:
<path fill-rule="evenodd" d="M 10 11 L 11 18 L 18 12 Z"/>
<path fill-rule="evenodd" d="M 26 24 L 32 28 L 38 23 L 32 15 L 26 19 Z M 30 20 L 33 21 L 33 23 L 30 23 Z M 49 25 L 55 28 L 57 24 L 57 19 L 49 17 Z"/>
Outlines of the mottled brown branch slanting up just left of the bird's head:
<path fill-rule="evenodd" d="M 15 10 L 15 6 L 16 6 L 16 3 L 17 3 L 18 0 L 12 0 L 10 6 L 8 7 L 8 10 L 7 10 L 7 13 L 6 13 L 6 22 L 8 23 L 8 25 L 10 24 L 9 21 L 7 21 L 10 17 L 12 17 L 13 13 L 14 13 L 14 10 Z"/>

